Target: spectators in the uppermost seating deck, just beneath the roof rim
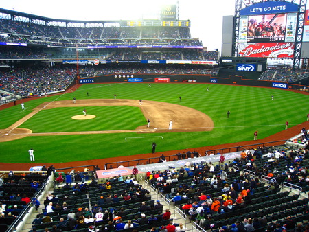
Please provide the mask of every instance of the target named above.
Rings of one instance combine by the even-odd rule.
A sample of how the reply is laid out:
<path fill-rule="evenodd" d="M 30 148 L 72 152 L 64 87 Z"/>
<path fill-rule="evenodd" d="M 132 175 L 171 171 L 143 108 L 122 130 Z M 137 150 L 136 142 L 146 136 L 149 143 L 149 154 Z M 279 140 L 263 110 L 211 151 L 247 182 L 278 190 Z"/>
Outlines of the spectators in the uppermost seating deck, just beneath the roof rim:
<path fill-rule="evenodd" d="M 202 46 L 190 37 L 189 27 L 64 27 L 1 19 L 0 41 L 80 47 L 88 45 Z"/>

